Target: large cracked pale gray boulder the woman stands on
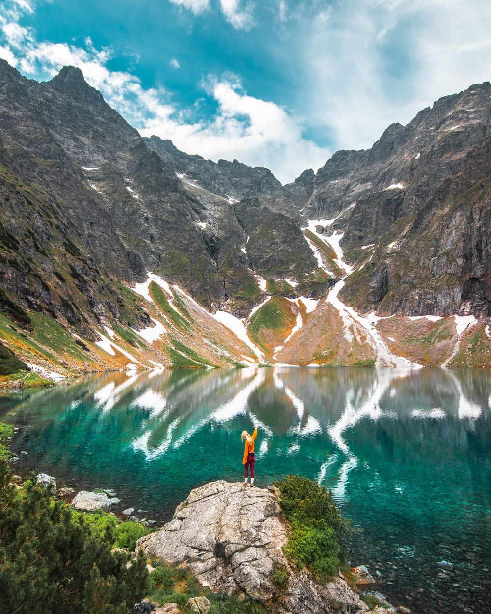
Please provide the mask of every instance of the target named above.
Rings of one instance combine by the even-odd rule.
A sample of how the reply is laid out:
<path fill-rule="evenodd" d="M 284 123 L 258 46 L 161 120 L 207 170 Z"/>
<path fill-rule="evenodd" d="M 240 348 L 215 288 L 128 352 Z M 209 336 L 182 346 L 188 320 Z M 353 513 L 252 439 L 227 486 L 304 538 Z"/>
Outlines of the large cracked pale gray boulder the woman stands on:
<path fill-rule="evenodd" d="M 171 563 L 188 561 L 198 580 L 213 590 L 270 600 L 277 614 L 355 614 L 368 610 L 341 576 L 322 586 L 311 573 L 288 564 L 287 527 L 276 489 L 244 488 L 217 481 L 191 491 L 174 518 L 142 537 L 137 550 Z M 274 564 L 290 575 L 281 593 Z"/>

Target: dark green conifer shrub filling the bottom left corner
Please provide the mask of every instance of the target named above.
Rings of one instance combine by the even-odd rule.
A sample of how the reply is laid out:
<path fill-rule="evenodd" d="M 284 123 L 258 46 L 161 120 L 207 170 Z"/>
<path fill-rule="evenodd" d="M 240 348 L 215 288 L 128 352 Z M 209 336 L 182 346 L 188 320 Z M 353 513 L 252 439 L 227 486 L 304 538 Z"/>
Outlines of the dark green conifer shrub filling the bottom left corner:
<path fill-rule="evenodd" d="M 0 460 L 2 614 L 126 614 L 147 587 L 144 557 L 112 552 L 35 476 L 21 489 L 9 485 L 11 476 Z"/>

